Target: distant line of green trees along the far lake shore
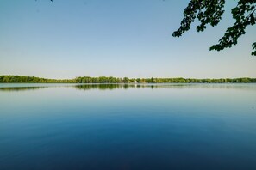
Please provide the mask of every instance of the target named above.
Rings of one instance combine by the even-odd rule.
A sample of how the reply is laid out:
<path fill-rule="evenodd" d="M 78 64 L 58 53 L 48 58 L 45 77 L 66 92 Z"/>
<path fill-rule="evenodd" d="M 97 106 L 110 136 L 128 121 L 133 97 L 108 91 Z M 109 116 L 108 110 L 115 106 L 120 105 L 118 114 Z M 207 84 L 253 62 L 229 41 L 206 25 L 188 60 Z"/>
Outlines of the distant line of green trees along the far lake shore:
<path fill-rule="evenodd" d="M 74 79 L 47 79 L 35 76 L 0 76 L 0 83 L 255 83 L 256 78 L 117 78 L 80 76 Z"/>

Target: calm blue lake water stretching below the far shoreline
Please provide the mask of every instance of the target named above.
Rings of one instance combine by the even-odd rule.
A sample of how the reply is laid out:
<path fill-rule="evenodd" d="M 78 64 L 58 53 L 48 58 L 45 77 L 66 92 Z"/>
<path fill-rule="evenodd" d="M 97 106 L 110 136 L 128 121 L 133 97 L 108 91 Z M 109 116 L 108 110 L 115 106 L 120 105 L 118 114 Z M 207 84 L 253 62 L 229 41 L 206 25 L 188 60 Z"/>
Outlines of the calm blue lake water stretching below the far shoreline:
<path fill-rule="evenodd" d="M 256 169 L 256 84 L 0 84 L 1 170 Z"/>

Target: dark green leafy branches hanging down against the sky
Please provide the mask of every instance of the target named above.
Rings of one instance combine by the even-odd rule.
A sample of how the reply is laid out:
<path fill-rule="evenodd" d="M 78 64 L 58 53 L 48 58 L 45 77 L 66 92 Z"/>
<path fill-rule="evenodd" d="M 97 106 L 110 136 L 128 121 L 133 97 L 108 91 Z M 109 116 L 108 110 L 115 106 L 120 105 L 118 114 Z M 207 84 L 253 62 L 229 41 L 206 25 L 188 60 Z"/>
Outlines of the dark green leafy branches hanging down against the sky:
<path fill-rule="evenodd" d="M 200 22 L 197 32 L 204 31 L 206 25 L 215 27 L 224 13 L 225 0 L 190 0 L 188 7 L 184 9 L 184 19 L 181 21 L 178 31 L 172 35 L 180 37 L 190 30 L 191 23 L 196 19 Z M 246 33 L 247 26 L 253 26 L 256 22 L 256 0 L 238 0 L 237 6 L 231 13 L 234 18 L 234 26 L 228 27 L 219 43 L 211 46 L 209 50 L 221 51 L 237 44 L 241 35 Z M 253 43 L 252 55 L 256 56 L 256 43 Z"/>

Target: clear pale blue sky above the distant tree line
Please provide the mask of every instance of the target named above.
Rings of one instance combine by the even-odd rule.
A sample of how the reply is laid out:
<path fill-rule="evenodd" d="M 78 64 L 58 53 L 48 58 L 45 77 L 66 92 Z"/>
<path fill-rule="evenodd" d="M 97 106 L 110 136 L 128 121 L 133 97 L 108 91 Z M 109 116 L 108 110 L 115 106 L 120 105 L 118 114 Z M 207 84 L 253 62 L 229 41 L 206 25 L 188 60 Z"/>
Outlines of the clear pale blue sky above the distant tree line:
<path fill-rule="evenodd" d="M 234 22 L 173 38 L 189 0 L 0 0 L 0 75 L 256 77 L 256 27 L 209 52 Z M 195 26 L 195 25 L 194 25 Z"/>

